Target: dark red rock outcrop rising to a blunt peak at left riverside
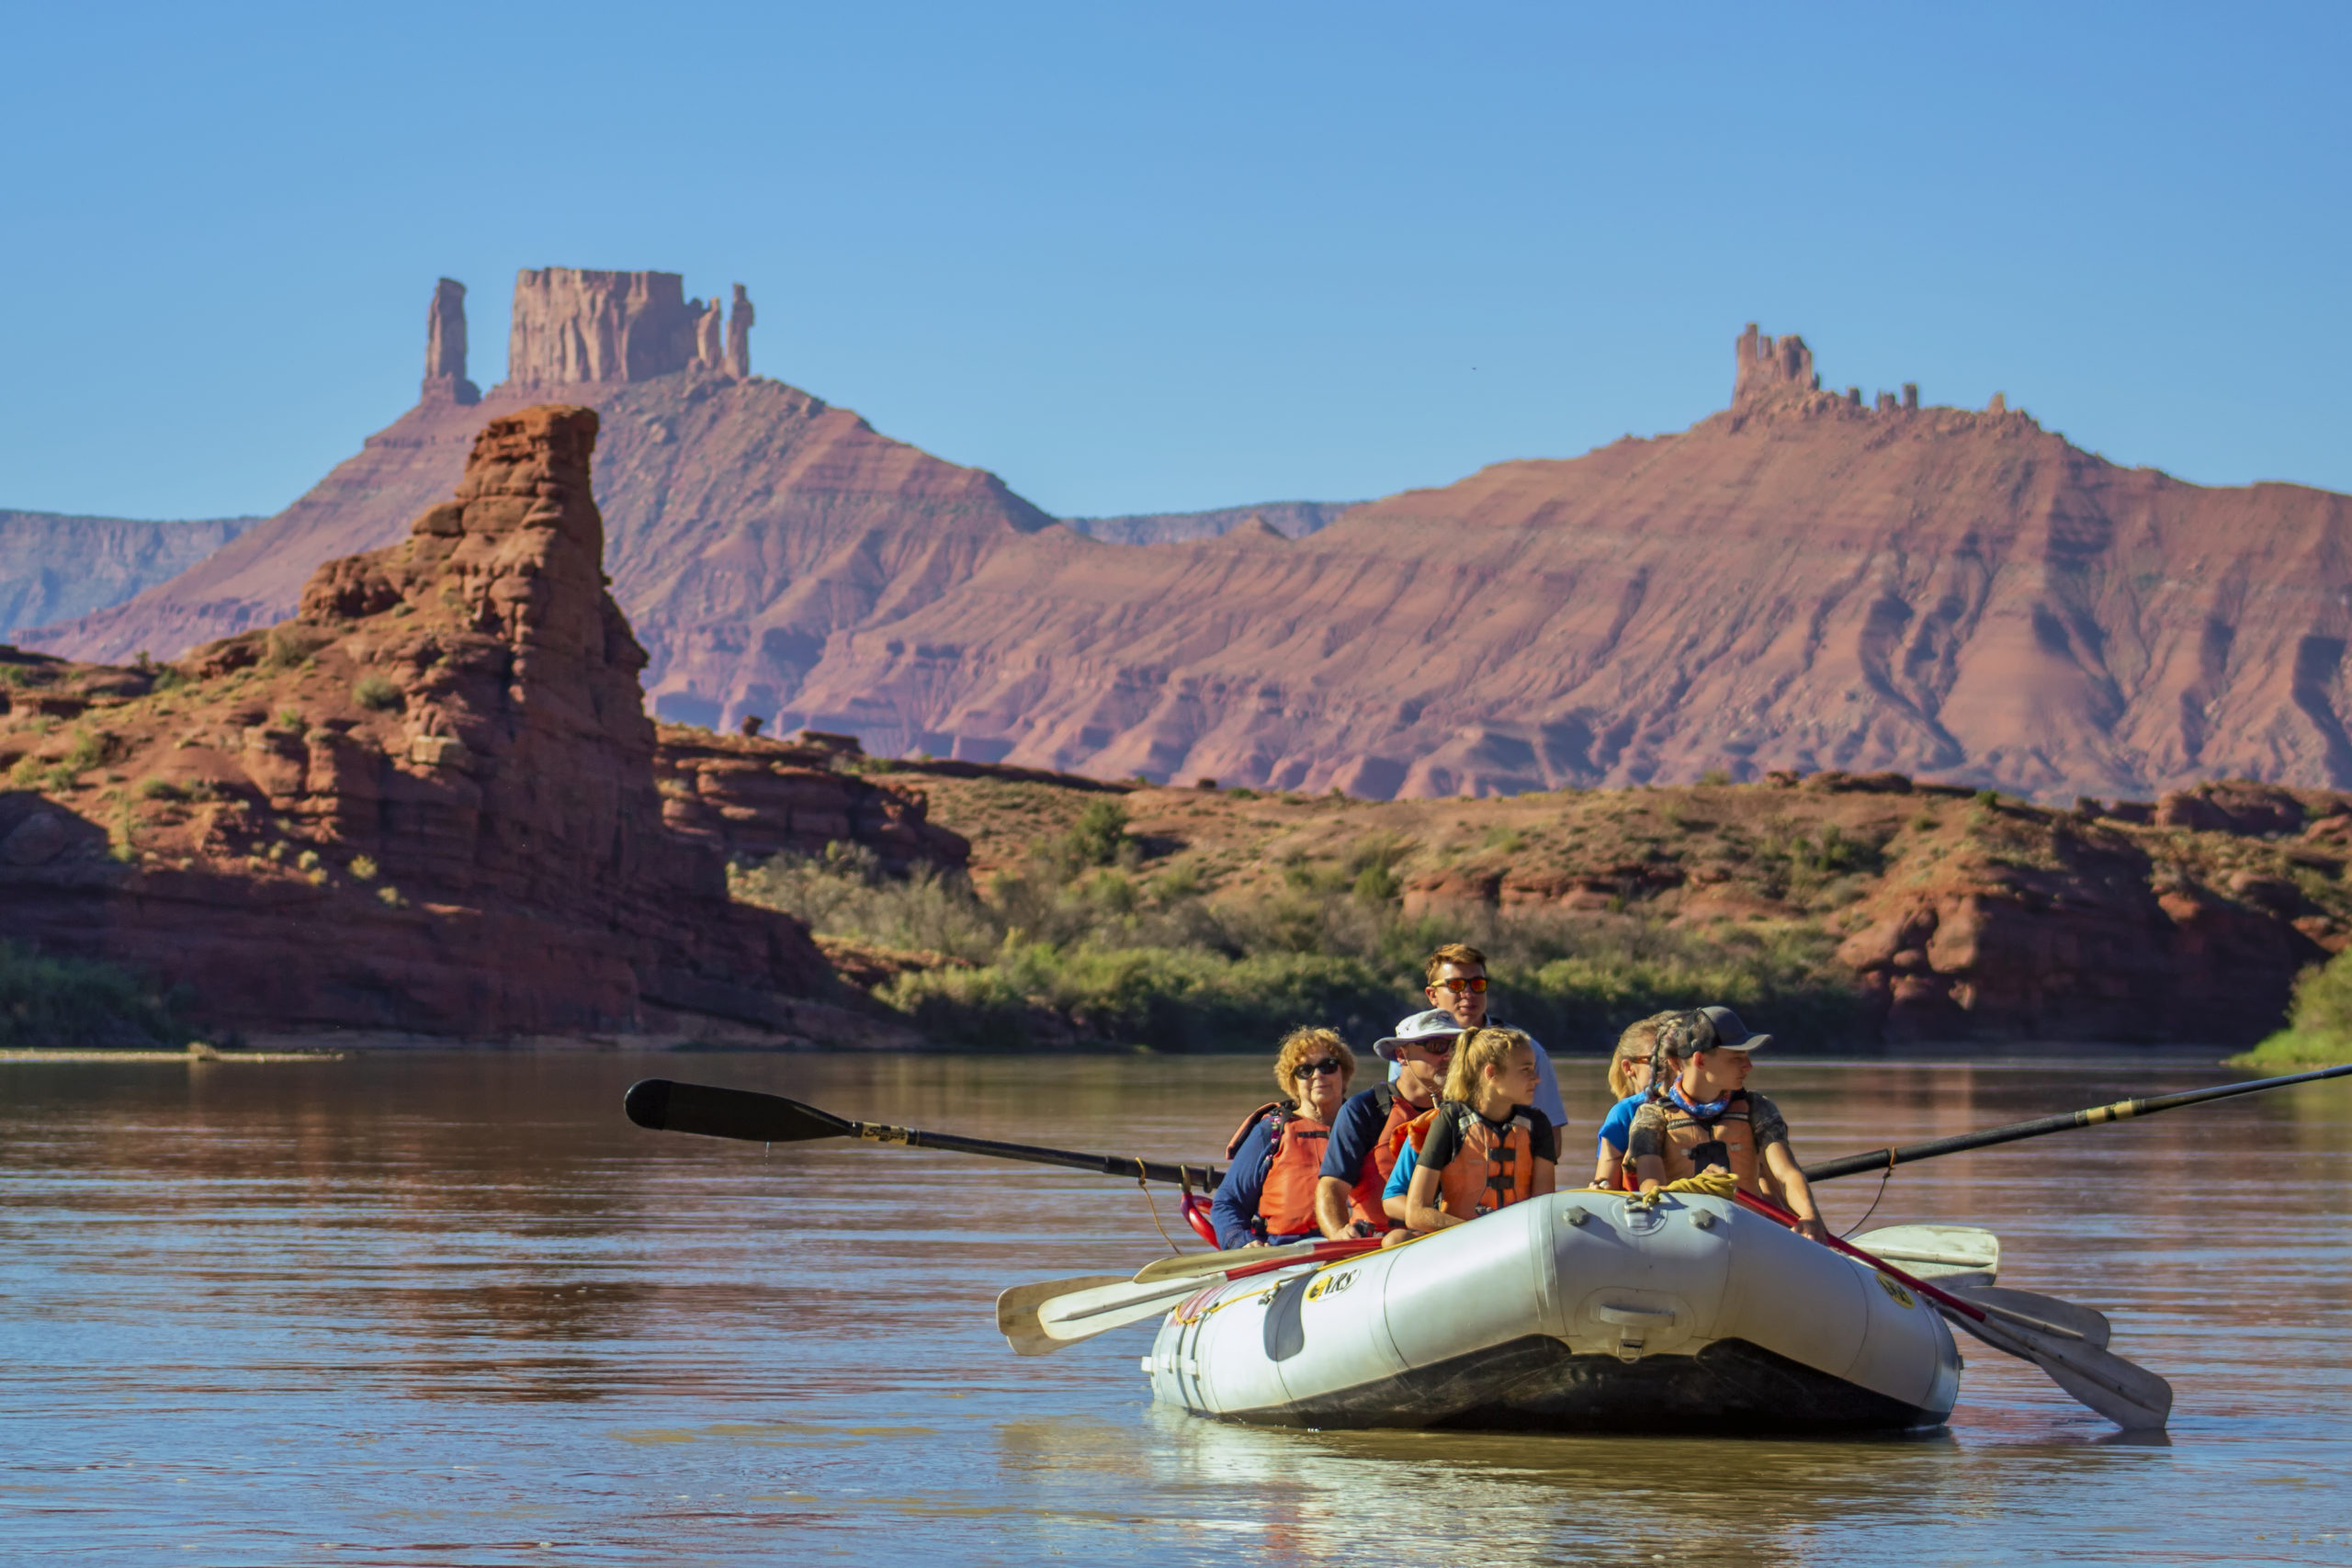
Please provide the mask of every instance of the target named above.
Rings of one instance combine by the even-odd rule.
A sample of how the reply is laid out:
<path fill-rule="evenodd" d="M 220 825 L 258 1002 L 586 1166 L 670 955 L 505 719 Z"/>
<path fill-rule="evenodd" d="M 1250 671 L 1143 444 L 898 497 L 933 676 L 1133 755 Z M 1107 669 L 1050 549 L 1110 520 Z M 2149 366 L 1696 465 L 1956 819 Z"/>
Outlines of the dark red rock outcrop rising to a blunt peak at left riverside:
<path fill-rule="evenodd" d="M 729 903 L 720 849 L 663 823 L 595 433 L 492 418 L 456 496 L 287 623 L 165 672 L 19 672 L 0 931 L 245 1027 L 870 1032 L 809 1001 L 807 931 Z"/>

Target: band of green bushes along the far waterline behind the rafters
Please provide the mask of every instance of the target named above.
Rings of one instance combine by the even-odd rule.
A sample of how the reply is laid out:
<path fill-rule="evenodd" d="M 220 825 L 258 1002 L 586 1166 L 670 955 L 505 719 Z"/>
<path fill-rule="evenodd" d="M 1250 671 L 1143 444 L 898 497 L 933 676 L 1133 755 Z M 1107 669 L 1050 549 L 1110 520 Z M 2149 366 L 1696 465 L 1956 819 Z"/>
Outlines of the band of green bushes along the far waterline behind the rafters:
<path fill-rule="evenodd" d="M 1383 842 L 1298 870 L 1279 896 L 1211 903 L 1181 867 L 1143 875 L 1115 816 L 1103 802 L 985 896 L 927 870 L 887 877 L 849 844 L 739 870 L 736 896 L 818 936 L 950 959 L 877 997 L 924 1034 L 978 1048 L 1256 1051 L 1296 1023 L 1331 1023 L 1364 1048 L 1428 1006 L 1421 966 L 1446 940 L 1482 947 L 1496 1013 L 1562 1053 L 1599 1053 L 1635 1018 L 1700 1001 L 1790 1044 L 1856 1034 L 1835 940 L 1811 926 L 1700 936 L 1630 914 L 1406 917 L 1390 875 L 1397 849 Z"/>

